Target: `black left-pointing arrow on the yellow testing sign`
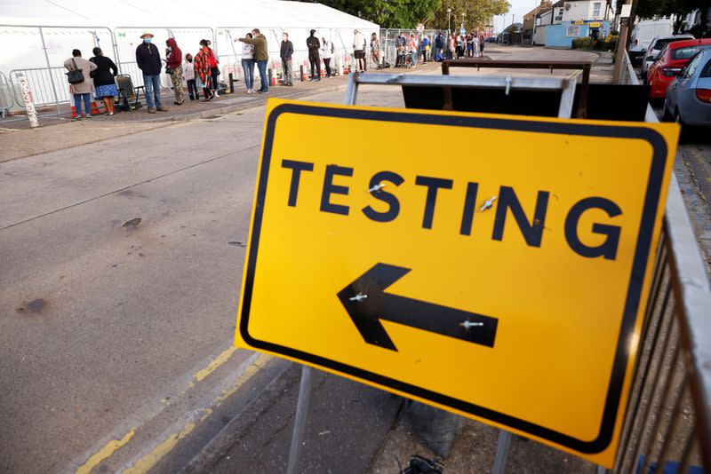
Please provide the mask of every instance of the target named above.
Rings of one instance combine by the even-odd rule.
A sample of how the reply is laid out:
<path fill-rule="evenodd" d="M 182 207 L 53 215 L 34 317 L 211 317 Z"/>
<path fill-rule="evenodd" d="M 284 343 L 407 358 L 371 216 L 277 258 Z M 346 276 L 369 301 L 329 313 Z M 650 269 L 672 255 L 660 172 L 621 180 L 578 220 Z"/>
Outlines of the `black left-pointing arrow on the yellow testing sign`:
<path fill-rule="evenodd" d="M 385 292 L 409 272 L 409 268 L 402 266 L 376 264 L 340 290 L 340 303 L 366 343 L 397 351 L 380 323 L 388 320 L 469 343 L 494 346 L 499 323 L 496 318 Z"/>

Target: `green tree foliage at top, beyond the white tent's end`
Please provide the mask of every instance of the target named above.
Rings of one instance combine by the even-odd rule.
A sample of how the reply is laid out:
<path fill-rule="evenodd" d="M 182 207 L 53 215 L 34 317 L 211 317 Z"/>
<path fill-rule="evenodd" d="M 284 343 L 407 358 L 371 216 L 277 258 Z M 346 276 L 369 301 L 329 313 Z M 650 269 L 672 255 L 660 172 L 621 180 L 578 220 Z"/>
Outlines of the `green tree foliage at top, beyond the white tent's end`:
<path fill-rule="evenodd" d="M 447 8 L 452 25 L 459 25 L 465 12 L 465 28 L 482 28 L 493 15 L 506 13 L 507 0 L 302 0 L 318 2 L 378 23 L 381 28 L 447 28 Z M 455 18 L 456 17 L 456 18 Z M 453 28 L 453 27 L 452 27 Z"/>

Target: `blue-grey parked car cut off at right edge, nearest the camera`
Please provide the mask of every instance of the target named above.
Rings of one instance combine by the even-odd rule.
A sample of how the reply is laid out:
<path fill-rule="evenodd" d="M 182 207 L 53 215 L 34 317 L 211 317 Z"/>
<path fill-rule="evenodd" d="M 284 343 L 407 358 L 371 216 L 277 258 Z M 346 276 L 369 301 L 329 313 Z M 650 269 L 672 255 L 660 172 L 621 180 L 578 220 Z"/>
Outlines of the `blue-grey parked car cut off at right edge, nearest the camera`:
<path fill-rule="evenodd" d="M 664 119 L 711 126 L 711 48 L 697 52 L 669 84 Z"/>

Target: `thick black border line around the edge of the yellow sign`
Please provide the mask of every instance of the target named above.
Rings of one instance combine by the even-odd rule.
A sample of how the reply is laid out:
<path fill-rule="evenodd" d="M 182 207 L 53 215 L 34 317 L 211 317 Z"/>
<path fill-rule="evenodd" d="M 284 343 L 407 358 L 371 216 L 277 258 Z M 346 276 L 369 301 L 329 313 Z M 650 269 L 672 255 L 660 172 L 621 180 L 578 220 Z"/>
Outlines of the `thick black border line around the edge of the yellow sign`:
<path fill-rule="evenodd" d="M 582 135 L 601 138 L 627 138 L 641 139 L 648 142 L 653 150 L 651 157 L 651 168 L 647 180 L 647 191 L 644 197 L 643 213 L 635 248 L 635 257 L 630 274 L 627 297 L 623 311 L 622 322 L 619 329 L 619 338 L 615 358 L 612 366 L 610 383 L 608 385 L 607 397 L 603 409 L 603 419 L 600 423 L 600 431 L 597 438 L 586 441 L 573 438 L 562 432 L 551 430 L 536 423 L 527 422 L 515 416 L 499 413 L 490 408 L 480 407 L 460 399 L 447 397 L 435 391 L 429 391 L 421 387 L 403 383 L 384 375 L 374 374 L 362 368 L 348 366 L 336 360 L 326 359 L 308 352 L 301 352 L 279 344 L 268 343 L 253 338 L 249 334 L 249 316 L 252 304 L 252 289 L 254 283 L 254 273 L 257 266 L 257 257 L 260 248 L 260 230 L 264 212 L 264 202 L 267 194 L 267 182 L 269 176 L 269 165 L 271 163 L 272 145 L 276 120 L 283 114 L 317 115 L 332 118 L 348 118 L 356 120 L 423 123 L 446 125 L 454 127 L 474 127 L 495 130 L 528 131 L 539 133 L 553 133 L 559 135 Z M 480 418 L 491 420 L 492 422 L 509 426 L 518 431 L 529 433 L 538 438 L 547 439 L 555 444 L 566 446 L 579 453 L 595 454 L 602 452 L 610 445 L 612 434 L 615 429 L 615 420 L 619 410 L 619 399 L 622 394 L 625 372 L 627 371 L 627 344 L 629 337 L 635 327 L 635 320 L 640 304 L 640 297 L 643 288 L 644 273 L 650 255 L 651 235 L 654 229 L 654 221 L 657 216 L 659 205 L 659 194 L 664 170 L 667 165 L 667 142 L 655 130 L 649 128 L 621 125 L 609 126 L 584 122 L 537 122 L 523 121 L 515 119 L 504 119 L 494 117 L 468 117 L 460 115 L 436 115 L 419 114 L 415 112 L 383 111 L 383 110 L 363 110 L 357 108 L 336 108 L 320 107 L 305 104 L 287 103 L 274 107 L 268 115 L 267 128 L 264 136 L 264 146 L 262 149 L 262 161 L 257 190 L 257 203 L 252 224 L 252 240 L 250 241 L 250 252 L 247 258 L 246 281 L 244 283 L 244 295 L 242 303 L 242 314 L 240 318 L 239 331 L 247 344 L 257 349 L 268 352 L 275 352 L 300 359 L 316 366 L 328 367 L 336 372 L 352 375 L 356 378 L 377 383 L 389 387 L 396 391 L 411 393 L 420 399 L 427 399 L 451 407 L 461 412 L 475 415 Z M 336 297 L 334 295 L 334 297 Z"/>

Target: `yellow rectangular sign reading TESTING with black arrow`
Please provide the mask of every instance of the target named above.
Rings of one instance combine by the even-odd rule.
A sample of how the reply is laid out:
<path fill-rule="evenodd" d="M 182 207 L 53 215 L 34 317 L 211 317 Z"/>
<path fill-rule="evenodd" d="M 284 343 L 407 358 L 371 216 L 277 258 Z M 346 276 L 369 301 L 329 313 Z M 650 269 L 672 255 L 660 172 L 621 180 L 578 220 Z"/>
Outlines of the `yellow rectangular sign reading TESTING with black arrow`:
<path fill-rule="evenodd" d="M 678 133 L 270 99 L 236 345 L 611 467 Z"/>

